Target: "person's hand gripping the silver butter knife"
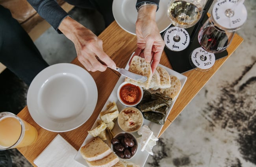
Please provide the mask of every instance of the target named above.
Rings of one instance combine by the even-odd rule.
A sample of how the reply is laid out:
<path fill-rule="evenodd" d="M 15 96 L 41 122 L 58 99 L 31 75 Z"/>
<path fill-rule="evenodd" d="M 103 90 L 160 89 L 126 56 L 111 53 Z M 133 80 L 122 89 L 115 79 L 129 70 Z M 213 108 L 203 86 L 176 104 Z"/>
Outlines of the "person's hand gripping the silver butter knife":
<path fill-rule="evenodd" d="M 88 71 L 103 72 L 107 66 L 116 68 L 115 62 L 103 51 L 102 40 L 91 30 L 70 17 L 63 19 L 59 30 L 74 43 L 78 60 Z M 101 64 L 95 56 L 98 56 L 107 66 Z"/>

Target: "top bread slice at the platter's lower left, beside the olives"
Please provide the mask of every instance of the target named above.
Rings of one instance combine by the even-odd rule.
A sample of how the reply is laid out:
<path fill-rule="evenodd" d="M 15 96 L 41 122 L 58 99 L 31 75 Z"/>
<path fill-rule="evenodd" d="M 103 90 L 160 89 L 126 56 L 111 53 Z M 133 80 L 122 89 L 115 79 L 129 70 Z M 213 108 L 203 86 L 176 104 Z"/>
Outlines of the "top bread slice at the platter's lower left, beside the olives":
<path fill-rule="evenodd" d="M 110 153 L 112 150 L 102 139 L 96 137 L 86 145 L 82 146 L 80 149 L 82 157 L 87 161 L 100 160 Z"/>

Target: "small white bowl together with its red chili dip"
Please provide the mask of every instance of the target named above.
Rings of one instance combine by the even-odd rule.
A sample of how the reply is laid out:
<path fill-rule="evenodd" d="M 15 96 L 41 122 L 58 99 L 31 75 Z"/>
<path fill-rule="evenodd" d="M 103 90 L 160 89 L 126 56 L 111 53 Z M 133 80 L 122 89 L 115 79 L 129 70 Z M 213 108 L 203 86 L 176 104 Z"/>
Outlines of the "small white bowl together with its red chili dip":
<path fill-rule="evenodd" d="M 122 83 L 117 90 L 119 101 L 125 106 L 136 106 L 143 97 L 143 89 L 130 83 Z"/>

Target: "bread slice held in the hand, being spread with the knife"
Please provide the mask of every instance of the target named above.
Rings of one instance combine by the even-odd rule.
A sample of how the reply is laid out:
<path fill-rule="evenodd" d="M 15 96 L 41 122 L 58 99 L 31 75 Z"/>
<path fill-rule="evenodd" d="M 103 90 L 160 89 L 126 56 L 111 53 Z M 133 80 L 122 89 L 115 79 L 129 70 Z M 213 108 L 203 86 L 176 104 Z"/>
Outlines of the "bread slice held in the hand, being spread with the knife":
<path fill-rule="evenodd" d="M 130 64 L 129 71 L 146 76 L 148 79 L 146 82 L 142 83 L 126 77 L 125 82 L 134 84 L 136 86 L 141 86 L 145 89 L 149 88 L 152 79 L 152 69 L 149 62 L 145 61 L 144 58 L 134 56 Z"/>

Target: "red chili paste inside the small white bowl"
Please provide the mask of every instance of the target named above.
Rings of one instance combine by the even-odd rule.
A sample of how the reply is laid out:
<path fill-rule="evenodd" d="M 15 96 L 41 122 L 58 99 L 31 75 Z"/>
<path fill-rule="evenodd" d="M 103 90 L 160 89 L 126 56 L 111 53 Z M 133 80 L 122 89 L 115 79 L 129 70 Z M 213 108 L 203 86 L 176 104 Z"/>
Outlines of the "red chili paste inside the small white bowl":
<path fill-rule="evenodd" d="M 127 105 L 134 105 L 141 98 L 141 90 L 139 86 L 127 83 L 121 87 L 119 95 L 124 103 Z"/>

